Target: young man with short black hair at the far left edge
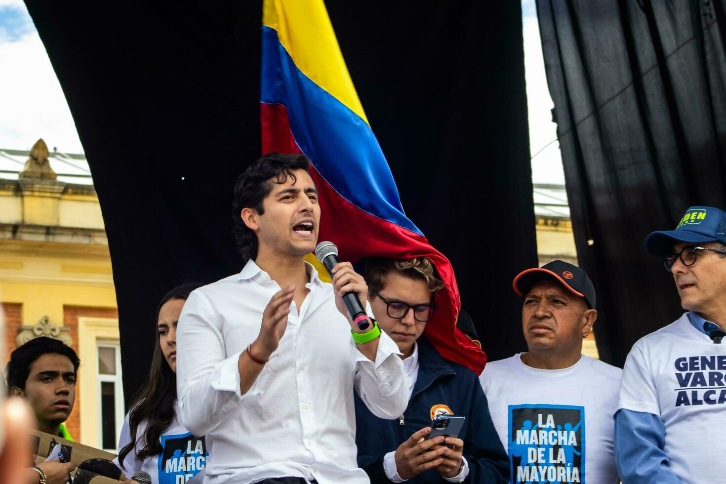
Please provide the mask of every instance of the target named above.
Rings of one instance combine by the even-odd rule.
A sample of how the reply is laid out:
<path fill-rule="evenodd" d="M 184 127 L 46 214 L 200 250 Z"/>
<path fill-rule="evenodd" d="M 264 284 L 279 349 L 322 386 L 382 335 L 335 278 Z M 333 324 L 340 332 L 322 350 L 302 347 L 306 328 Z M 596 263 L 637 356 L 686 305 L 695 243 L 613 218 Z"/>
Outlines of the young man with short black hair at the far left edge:
<path fill-rule="evenodd" d="M 36 416 L 36 428 L 41 432 L 73 440 L 63 422 L 76 401 L 80 363 L 73 348 L 44 336 L 10 353 L 5 368 L 8 393 L 28 402 Z M 65 484 L 73 469 L 75 466 L 70 463 L 43 462 L 26 470 L 25 482 Z"/>

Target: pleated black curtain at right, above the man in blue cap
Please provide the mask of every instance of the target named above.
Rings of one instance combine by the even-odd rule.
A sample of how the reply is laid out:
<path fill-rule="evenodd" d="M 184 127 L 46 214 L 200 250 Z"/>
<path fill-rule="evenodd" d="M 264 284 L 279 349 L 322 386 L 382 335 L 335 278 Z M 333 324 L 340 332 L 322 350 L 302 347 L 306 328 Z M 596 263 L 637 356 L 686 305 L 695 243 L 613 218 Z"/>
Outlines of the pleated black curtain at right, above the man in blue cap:
<path fill-rule="evenodd" d="M 683 313 L 645 237 L 690 205 L 726 208 L 725 13 L 721 0 L 537 0 L 579 262 L 611 364 Z"/>

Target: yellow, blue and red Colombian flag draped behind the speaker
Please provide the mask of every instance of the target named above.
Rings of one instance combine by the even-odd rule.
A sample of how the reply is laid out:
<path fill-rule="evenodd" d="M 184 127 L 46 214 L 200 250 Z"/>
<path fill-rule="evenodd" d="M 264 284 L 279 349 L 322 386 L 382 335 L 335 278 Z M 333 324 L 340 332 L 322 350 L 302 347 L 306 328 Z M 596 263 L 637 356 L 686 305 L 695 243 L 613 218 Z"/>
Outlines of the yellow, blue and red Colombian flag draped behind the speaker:
<path fill-rule="evenodd" d="M 460 297 L 449 260 L 404 214 L 399 192 L 348 74 L 323 0 L 264 0 L 262 152 L 303 153 L 319 189 L 319 240 L 341 261 L 429 258 L 446 288 L 425 335 L 477 374 L 486 355 L 456 329 Z"/>

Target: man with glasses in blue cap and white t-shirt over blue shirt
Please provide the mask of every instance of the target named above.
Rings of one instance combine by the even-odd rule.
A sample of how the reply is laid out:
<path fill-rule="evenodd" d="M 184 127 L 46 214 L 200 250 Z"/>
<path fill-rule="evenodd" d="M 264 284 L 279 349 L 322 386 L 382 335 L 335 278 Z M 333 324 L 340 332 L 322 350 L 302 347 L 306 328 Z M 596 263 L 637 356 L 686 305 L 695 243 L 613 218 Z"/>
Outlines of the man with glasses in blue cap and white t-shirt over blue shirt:
<path fill-rule="evenodd" d="M 686 311 L 625 362 L 615 419 L 623 483 L 719 483 L 726 439 L 726 213 L 691 207 L 645 250 L 663 258 Z M 715 343 L 715 344 L 714 344 Z"/>

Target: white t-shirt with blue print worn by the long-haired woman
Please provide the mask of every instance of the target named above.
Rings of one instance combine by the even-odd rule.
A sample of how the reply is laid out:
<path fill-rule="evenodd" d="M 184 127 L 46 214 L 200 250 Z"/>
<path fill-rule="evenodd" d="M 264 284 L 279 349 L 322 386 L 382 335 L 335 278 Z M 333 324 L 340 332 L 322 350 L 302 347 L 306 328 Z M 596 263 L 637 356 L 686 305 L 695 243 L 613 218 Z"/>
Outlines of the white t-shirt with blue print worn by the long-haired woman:
<path fill-rule="evenodd" d="M 154 484 L 201 483 L 208 456 L 205 438 L 192 435 L 192 432 L 179 424 L 175 417 L 159 438 L 163 452 L 140 461 L 136 459 L 136 452 L 144 448 L 143 435 L 146 424 L 147 422 L 139 424 L 136 430 L 136 446 L 133 451 L 126 454 L 123 465 L 118 462 L 118 457 L 113 461 L 126 477 L 130 479 L 134 473 L 142 470 L 149 473 Z M 121 452 L 121 449 L 130 442 L 131 428 L 127 414 L 121 427 L 121 437 L 118 439 L 118 451 Z"/>

